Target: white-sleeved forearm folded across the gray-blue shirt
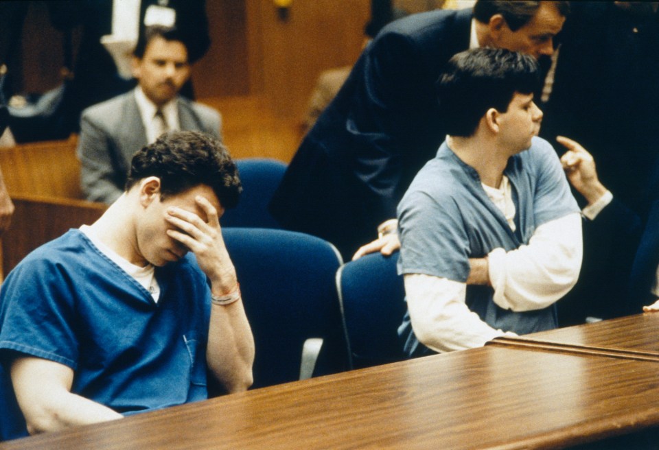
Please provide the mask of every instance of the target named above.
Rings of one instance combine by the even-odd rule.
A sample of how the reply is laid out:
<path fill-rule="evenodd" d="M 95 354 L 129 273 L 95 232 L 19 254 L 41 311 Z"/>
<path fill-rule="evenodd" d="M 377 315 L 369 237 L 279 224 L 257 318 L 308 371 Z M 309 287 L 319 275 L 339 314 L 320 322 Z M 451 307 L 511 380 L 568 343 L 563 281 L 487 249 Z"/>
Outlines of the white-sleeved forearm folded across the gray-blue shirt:
<path fill-rule="evenodd" d="M 553 304 L 577 283 L 583 253 L 581 217 L 574 213 L 538 227 L 527 246 L 488 255 L 494 302 L 512 311 Z"/>

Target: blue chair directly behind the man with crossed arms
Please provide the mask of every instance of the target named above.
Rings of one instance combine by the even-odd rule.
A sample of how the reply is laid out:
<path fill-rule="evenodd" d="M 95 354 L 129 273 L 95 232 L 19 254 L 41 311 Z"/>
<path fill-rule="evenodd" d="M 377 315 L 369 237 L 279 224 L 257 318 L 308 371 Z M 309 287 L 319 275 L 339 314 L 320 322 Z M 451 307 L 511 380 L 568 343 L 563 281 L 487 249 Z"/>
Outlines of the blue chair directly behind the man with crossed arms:
<path fill-rule="evenodd" d="M 406 358 L 397 332 L 407 308 L 397 261 L 397 252 L 391 257 L 367 254 L 336 274 L 351 368 Z"/>

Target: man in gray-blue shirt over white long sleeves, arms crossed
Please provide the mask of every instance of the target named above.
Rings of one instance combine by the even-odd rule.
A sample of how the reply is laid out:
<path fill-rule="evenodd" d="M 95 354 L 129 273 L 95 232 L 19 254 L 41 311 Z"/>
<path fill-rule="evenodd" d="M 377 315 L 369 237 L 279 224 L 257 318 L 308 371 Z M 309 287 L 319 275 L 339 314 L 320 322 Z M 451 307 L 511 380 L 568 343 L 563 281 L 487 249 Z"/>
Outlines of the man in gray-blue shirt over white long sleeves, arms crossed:
<path fill-rule="evenodd" d="M 504 49 L 454 56 L 438 98 L 448 131 L 398 207 L 410 356 L 557 327 L 577 282 L 581 216 L 537 138 L 537 62 Z"/>

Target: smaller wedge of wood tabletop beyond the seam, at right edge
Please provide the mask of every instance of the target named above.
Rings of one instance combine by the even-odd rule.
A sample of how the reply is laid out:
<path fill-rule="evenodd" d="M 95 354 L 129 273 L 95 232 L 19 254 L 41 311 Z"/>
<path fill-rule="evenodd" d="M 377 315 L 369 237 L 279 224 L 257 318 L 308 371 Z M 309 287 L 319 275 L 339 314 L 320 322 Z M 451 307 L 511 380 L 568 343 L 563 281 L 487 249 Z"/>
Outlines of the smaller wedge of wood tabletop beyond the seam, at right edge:
<path fill-rule="evenodd" d="M 531 346 L 571 353 L 598 353 L 659 362 L 659 313 L 497 338 L 491 344 Z"/>

